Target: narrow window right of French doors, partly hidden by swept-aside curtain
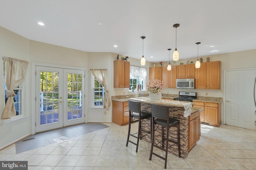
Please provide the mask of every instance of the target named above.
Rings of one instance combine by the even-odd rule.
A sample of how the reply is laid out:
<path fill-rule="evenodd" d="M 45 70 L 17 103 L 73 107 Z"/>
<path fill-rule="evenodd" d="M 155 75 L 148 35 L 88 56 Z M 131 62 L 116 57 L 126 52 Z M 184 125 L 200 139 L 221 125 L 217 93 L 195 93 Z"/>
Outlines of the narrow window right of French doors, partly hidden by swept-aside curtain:
<path fill-rule="evenodd" d="M 105 89 L 98 82 L 98 80 L 92 75 L 92 91 L 93 91 L 93 107 L 103 108 L 103 100 Z"/>

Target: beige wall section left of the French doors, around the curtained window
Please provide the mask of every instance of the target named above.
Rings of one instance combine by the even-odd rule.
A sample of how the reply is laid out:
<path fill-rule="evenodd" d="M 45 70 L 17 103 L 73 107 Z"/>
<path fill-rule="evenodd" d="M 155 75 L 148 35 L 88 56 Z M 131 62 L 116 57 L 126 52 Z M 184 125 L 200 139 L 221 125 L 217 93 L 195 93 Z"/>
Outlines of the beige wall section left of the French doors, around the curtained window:
<path fill-rule="evenodd" d="M 29 40 L 12 31 L 0 27 L 0 56 L 0 75 L 1 77 L 3 77 L 4 66 L 2 62 L 2 57 L 5 56 L 29 61 Z M 30 67 L 28 67 L 27 74 L 29 72 L 29 69 Z M 25 86 L 29 86 L 28 76 L 26 76 Z M 0 78 L 0 117 L 2 116 L 2 112 L 4 110 L 3 88 L 4 80 L 3 78 Z M 26 93 L 24 94 L 24 100 L 29 101 L 29 96 L 30 92 L 29 90 L 26 90 Z M 22 111 L 24 111 L 24 113 L 22 114 L 28 117 L 16 121 L 12 121 L 10 119 L 0 120 L 0 149 L 30 134 L 31 119 L 29 113 L 29 103 L 25 105 L 25 108 Z"/>

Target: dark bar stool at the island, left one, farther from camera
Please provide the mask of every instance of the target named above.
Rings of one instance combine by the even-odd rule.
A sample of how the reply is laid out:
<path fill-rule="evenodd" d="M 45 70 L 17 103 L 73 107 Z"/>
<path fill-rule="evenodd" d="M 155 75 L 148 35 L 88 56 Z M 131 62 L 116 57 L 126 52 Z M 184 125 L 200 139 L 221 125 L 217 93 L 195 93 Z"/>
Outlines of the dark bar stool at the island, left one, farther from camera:
<path fill-rule="evenodd" d="M 144 111 L 140 110 L 140 102 L 133 102 L 128 100 L 128 107 L 129 107 L 129 127 L 128 127 L 128 136 L 127 136 L 127 141 L 126 141 L 126 147 L 128 146 L 128 142 L 136 145 L 136 152 L 138 152 L 138 146 L 139 146 L 139 139 L 141 140 L 142 136 L 141 136 L 141 131 L 145 131 L 143 129 L 141 129 L 141 122 L 144 119 L 150 119 L 151 117 L 151 113 L 147 113 Z M 139 121 L 139 127 L 138 127 L 138 132 L 131 134 L 131 124 L 135 121 L 135 119 L 138 119 Z M 150 119 L 151 121 L 151 119 Z M 150 122 L 150 126 L 151 126 L 151 122 Z M 151 127 L 150 127 L 151 130 Z M 145 131 L 148 135 L 150 134 L 150 131 Z M 138 134 L 138 136 L 136 136 L 135 134 Z M 129 138 L 130 136 L 134 137 L 137 139 L 137 143 L 134 143 L 133 141 L 130 141 Z M 145 136 L 145 135 L 144 135 Z"/>

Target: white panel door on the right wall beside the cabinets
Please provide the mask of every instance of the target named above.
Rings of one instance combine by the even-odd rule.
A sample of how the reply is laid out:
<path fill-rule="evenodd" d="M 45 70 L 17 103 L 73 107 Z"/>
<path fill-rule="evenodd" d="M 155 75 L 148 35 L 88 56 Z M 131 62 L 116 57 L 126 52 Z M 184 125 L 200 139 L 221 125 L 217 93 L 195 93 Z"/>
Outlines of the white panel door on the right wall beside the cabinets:
<path fill-rule="evenodd" d="M 226 124 L 256 130 L 256 69 L 226 71 Z"/>

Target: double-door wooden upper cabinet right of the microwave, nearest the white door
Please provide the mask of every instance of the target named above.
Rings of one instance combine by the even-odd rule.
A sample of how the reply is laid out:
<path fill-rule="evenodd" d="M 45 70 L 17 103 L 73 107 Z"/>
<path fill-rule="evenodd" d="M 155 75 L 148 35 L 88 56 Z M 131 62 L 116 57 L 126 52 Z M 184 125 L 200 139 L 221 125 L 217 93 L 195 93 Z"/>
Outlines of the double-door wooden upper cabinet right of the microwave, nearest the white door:
<path fill-rule="evenodd" d="M 211 61 L 201 63 L 195 71 L 196 89 L 220 89 L 221 63 Z"/>

